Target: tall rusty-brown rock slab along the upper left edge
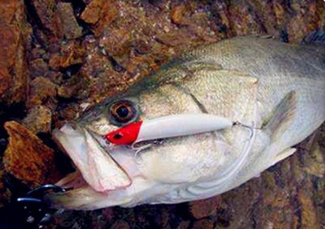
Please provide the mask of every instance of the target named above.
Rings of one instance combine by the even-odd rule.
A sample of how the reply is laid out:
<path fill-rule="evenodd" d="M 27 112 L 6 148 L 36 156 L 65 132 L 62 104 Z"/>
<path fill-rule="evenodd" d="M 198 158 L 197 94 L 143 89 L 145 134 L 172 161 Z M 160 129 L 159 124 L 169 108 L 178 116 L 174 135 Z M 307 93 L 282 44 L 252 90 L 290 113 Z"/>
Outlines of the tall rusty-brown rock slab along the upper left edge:
<path fill-rule="evenodd" d="M 25 58 L 31 29 L 27 24 L 23 1 L 0 3 L 0 100 L 7 103 L 25 99 L 28 68 Z"/>

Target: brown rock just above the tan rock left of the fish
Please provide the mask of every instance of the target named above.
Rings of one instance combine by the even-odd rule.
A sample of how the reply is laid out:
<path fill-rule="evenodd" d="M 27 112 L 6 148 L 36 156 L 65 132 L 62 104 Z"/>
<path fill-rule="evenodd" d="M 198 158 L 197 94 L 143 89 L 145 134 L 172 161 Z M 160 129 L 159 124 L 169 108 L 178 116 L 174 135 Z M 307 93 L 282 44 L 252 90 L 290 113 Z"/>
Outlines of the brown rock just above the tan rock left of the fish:
<path fill-rule="evenodd" d="M 29 83 L 29 87 L 28 108 L 38 105 L 47 105 L 51 108 L 55 105 L 56 85 L 49 79 L 37 77 Z"/>

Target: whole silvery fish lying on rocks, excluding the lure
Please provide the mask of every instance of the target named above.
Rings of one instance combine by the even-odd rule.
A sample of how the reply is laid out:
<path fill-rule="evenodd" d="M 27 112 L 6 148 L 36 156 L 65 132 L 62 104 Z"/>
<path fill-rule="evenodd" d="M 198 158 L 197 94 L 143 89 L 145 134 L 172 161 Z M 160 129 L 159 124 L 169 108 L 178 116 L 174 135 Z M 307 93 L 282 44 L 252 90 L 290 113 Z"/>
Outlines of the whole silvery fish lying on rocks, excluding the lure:
<path fill-rule="evenodd" d="M 322 44 L 239 36 L 200 46 L 53 130 L 76 172 L 57 183 L 66 192 L 49 193 L 46 201 L 94 210 L 210 198 L 292 155 L 325 120 L 324 105 Z M 251 128 L 233 125 L 136 146 L 105 138 L 132 123 L 183 114 Z M 175 128 L 187 126 L 180 123 Z"/>

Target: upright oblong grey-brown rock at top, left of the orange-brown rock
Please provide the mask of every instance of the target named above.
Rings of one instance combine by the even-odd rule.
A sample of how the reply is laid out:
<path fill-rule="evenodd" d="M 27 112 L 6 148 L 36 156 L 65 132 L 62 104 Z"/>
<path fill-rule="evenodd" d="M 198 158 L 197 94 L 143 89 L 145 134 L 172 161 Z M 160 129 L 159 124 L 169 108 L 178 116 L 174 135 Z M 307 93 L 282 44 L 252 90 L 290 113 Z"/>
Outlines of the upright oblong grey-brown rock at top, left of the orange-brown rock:
<path fill-rule="evenodd" d="M 58 11 L 63 22 L 63 34 L 68 39 L 78 38 L 82 35 L 82 28 L 78 25 L 71 3 L 59 3 Z"/>

